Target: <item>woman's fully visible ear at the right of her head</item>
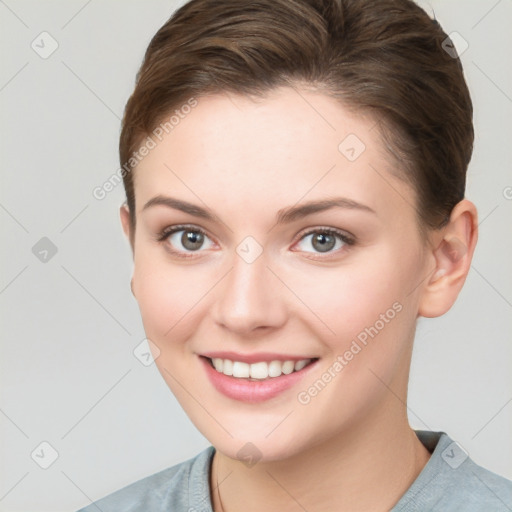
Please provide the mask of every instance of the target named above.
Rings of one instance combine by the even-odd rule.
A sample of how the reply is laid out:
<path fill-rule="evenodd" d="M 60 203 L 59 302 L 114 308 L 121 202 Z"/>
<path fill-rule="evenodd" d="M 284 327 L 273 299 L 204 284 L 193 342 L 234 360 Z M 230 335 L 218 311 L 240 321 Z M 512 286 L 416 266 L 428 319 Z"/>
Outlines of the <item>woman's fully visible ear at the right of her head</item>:
<path fill-rule="evenodd" d="M 436 237 L 432 250 L 435 270 L 423 289 L 418 315 L 433 318 L 444 315 L 452 307 L 471 268 L 477 239 L 476 207 L 463 199 Z"/>

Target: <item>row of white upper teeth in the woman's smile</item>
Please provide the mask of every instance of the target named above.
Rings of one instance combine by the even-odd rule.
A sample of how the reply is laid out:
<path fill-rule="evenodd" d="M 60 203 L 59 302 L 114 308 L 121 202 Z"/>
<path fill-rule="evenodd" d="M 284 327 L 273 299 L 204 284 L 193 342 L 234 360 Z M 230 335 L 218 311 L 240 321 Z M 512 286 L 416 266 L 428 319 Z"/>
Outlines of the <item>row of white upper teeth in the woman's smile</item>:
<path fill-rule="evenodd" d="M 242 363 L 241 361 L 232 361 L 231 359 L 221 359 L 214 357 L 212 359 L 213 367 L 224 375 L 232 375 L 240 379 L 267 379 L 279 377 L 280 375 L 289 375 L 290 373 L 302 370 L 308 365 L 311 359 L 301 359 L 300 361 L 270 361 L 269 363 L 261 361 L 258 363 Z"/>

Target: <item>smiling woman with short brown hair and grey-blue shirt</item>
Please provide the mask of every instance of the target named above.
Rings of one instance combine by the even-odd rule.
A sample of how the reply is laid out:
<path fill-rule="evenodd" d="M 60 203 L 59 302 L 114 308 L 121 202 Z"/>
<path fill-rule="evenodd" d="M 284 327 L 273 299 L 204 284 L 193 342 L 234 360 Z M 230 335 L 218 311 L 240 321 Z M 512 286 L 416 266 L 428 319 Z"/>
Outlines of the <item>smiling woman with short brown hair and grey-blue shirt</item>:
<path fill-rule="evenodd" d="M 82 509 L 510 510 L 414 431 L 418 317 L 477 242 L 462 67 L 410 0 L 192 0 L 151 41 L 120 140 L 132 291 L 212 446 Z"/>

